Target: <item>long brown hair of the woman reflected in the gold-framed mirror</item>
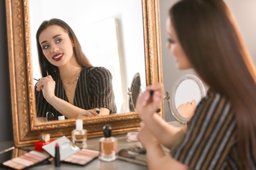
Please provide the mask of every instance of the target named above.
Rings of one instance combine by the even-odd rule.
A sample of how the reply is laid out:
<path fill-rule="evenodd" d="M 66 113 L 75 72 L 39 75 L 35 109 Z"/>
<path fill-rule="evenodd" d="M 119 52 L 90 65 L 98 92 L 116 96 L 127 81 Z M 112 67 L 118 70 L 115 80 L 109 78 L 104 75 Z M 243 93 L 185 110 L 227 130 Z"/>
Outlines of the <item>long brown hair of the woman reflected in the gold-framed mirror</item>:
<path fill-rule="evenodd" d="M 37 53 L 38 53 L 39 65 L 40 65 L 42 76 L 53 75 L 54 73 L 58 73 L 58 67 L 51 64 L 47 60 L 47 58 L 45 58 L 45 55 L 43 54 L 43 50 L 39 43 L 39 35 L 43 30 L 45 30 L 47 27 L 51 25 L 58 25 L 62 27 L 66 31 L 66 33 L 68 33 L 68 36 L 70 37 L 71 41 L 74 42 L 73 50 L 74 50 L 74 56 L 75 56 L 75 59 L 77 60 L 77 63 L 79 63 L 79 65 L 81 65 L 82 67 L 92 67 L 93 65 L 91 65 L 89 59 L 87 59 L 87 57 L 83 53 L 81 45 L 77 37 L 75 36 L 74 31 L 71 29 L 71 27 L 68 24 L 66 24 L 66 22 L 57 18 L 53 18 L 51 20 L 45 20 L 44 22 L 42 22 L 42 24 L 37 29 L 37 33 L 36 33 Z"/>

